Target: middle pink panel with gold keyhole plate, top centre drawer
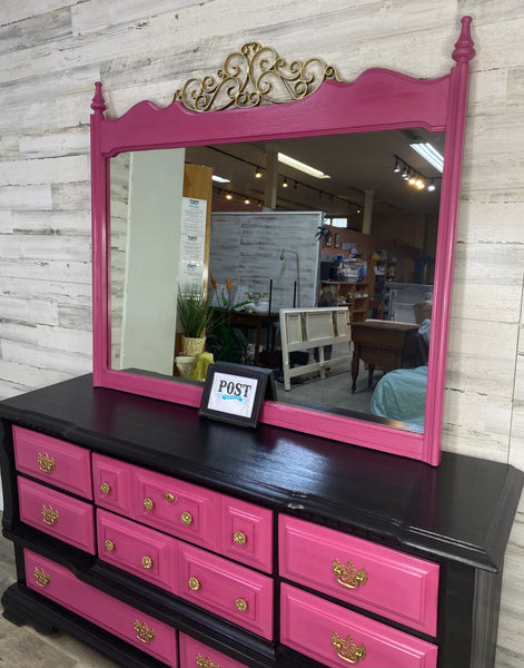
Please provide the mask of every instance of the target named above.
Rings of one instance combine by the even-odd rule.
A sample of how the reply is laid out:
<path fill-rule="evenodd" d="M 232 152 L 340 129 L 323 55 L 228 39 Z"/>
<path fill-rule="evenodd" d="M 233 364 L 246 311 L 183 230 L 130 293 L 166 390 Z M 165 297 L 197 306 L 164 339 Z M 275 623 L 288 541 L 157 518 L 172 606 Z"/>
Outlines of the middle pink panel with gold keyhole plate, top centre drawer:
<path fill-rule="evenodd" d="M 220 494 L 134 466 L 132 517 L 156 529 L 217 550 Z"/>

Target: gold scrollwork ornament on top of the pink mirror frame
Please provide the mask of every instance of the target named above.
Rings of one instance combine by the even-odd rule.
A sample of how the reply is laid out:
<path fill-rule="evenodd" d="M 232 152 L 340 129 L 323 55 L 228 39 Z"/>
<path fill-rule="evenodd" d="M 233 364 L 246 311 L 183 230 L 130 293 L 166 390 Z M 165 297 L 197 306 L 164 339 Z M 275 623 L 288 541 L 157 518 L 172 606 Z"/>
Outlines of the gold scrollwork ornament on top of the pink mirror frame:
<path fill-rule="evenodd" d="M 320 58 L 287 63 L 273 47 L 253 41 L 229 53 L 216 77 L 188 79 L 172 101 L 191 111 L 289 102 L 307 97 L 325 79 L 340 80 L 337 69 Z"/>

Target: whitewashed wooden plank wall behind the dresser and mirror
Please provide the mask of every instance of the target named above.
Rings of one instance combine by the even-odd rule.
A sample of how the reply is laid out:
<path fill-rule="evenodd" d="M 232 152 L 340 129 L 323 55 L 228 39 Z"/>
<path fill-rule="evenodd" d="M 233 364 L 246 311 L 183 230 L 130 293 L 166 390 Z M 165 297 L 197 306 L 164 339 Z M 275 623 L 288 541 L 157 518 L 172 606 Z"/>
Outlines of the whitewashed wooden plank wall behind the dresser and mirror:
<path fill-rule="evenodd" d="M 522 0 L 4 0 L 0 3 L 0 396 L 90 370 L 89 105 L 168 104 L 246 41 L 447 71 L 459 17 L 473 61 L 444 448 L 524 469 Z M 506 559 L 497 668 L 524 664 L 524 528 Z"/>

